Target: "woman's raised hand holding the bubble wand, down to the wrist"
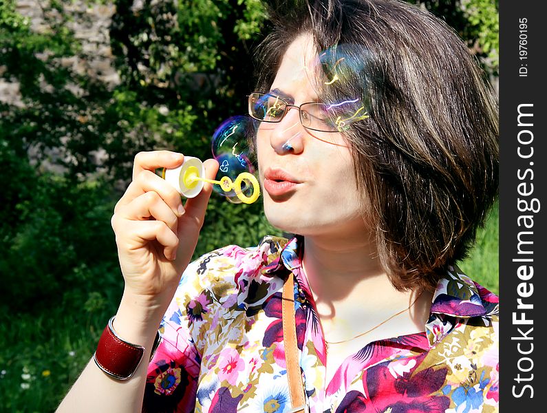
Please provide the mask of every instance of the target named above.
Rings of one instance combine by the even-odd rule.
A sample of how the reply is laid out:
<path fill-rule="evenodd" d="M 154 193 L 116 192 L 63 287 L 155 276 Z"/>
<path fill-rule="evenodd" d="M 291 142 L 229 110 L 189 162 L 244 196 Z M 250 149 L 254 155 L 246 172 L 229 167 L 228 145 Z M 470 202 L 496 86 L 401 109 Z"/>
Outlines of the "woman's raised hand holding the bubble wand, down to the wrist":
<path fill-rule="evenodd" d="M 141 152 L 135 157 L 133 180 L 116 204 L 111 224 L 125 279 L 125 294 L 167 307 L 188 266 L 203 225 L 211 184 L 183 206 L 180 194 L 155 174 L 174 168 L 184 156 L 170 151 Z M 214 179 L 218 163 L 204 162 L 206 178 Z"/>

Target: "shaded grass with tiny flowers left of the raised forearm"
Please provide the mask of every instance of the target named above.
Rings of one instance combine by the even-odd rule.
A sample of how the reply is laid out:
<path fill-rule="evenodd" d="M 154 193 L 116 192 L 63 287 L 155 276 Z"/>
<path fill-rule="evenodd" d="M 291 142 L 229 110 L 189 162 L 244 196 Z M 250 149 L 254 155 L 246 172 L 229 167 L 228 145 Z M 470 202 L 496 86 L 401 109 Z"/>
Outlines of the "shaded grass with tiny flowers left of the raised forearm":
<path fill-rule="evenodd" d="M 8 315 L 0 320 L 0 412 L 54 412 L 92 357 L 98 326 L 109 316 L 61 306 Z"/>

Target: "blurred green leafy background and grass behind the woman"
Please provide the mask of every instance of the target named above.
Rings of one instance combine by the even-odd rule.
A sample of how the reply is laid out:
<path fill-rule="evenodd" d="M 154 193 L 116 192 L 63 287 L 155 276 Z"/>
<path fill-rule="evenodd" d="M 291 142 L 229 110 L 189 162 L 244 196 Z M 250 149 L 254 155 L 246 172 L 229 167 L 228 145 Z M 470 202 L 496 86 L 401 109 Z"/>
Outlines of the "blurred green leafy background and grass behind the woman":
<path fill-rule="evenodd" d="M 411 3 L 497 91 L 498 1 Z M 211 157 L 268 25 L 259 0 L 0 0 L 0 412 L 53 412 L 89 361 L 122 292 L 110 218 L 133 157 Z M 261 202 L 213 194 L 195 257 L 267 233 Z M 494 293 L 497 240 L 496 205 L 460 263 Z"/>

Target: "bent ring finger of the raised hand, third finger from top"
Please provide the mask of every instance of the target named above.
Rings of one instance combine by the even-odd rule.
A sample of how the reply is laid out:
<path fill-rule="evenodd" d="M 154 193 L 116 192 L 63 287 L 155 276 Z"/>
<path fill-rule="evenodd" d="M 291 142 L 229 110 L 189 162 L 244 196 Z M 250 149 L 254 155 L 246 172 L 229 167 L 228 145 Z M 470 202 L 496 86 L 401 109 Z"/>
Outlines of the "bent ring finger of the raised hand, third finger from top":
<path fill-rule="evenodd" d="M 138 196 L 129 204 L 119 209 L 122 218 L 128 220 L 154 220 L 165 222 L 176 233 L 178 216 L 167 205 L 157 192 L 149 191 Z"/>

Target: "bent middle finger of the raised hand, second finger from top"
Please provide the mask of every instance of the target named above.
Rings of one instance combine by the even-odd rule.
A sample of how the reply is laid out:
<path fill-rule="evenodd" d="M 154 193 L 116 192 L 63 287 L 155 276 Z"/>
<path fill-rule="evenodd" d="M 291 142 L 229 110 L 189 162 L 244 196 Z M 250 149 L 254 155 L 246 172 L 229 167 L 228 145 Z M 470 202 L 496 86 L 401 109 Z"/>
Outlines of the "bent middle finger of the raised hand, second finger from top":
<path fill-rule="evenodd" d="M 140 195 L 151 191 L 158 193 L 160 198 L 164 200 L 175 215 L 180 217 L 184 213 L 180 193 L 164 179 L 147 170 L 141 171 L 136 179 L 129 184 L 124 195 L 120 198 L 118 204 L 116 204 L 114 212 L 117 212 L 120 207 L 123 207 L 140 197 Z"/>

